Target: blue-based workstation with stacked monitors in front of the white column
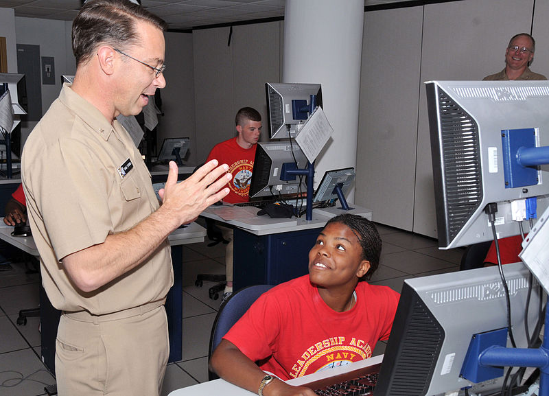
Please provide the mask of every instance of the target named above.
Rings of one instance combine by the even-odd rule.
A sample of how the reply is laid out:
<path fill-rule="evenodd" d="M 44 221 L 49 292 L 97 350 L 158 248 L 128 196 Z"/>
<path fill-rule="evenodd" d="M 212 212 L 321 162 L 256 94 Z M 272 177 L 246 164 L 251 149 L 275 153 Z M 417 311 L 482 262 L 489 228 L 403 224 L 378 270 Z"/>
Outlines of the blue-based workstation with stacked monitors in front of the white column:
<path fill-rule="evenodd" d="M 329 218 L 340 213 L 372 218 L 371 210 L 349 208 L 345 200 L 353 168 L 326 172 L 330 176 L 313 193 L 314 161 L 333 132 L 321 107 L 320 84 L 266 83 L 266 101 L 270 140 L 257 143 L 251 178 L 239 180 L 248 183 L 250 202 L 213 205 L 201 215 L 234 229 L 235 291 L 305 275 L 309 248 Z M 331 206 L 336 200 L 345 209 Z M 281 210 L 287 212 L 274 213 Z"/>

